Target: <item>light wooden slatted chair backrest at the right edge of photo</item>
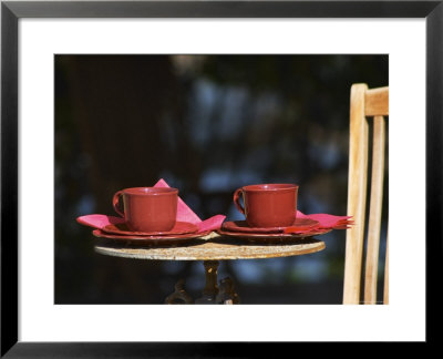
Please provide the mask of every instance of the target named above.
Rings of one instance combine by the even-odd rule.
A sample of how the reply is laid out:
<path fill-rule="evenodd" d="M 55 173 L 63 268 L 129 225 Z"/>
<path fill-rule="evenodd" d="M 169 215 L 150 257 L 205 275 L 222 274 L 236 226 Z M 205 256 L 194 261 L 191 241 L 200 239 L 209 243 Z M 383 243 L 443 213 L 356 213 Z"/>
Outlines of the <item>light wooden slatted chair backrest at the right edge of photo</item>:
<path fill-rule="evenodd" d="M 389 88 L 368 89 L 364 83 L 351 86 L 348 215 L 354 225 L 347 230 L 343 304 L 375 304 L 380 227 L 383 202 L 385 119 L 389 116 Z M 369 123 L 373 124 L 372 175 L 364 270 L 364 299 L 360 300 L 365 229 Z M 388 238 L 383 302 L 388 304 Z"/>

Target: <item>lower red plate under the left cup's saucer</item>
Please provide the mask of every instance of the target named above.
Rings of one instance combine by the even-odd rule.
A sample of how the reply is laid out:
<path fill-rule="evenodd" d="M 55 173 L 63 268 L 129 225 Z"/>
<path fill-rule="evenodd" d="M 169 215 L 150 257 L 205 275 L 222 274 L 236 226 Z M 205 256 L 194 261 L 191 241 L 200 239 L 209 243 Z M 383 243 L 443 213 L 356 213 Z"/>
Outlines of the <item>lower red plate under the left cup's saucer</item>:
<path fill-rule="evenodd" d="M 207 236 L 212 230 L 202 232 L 202 233 L 187 233 L 187 234 L 178 234 L 178 235 L 163 235 L 163 236 L 134 236 L 134 235 L 117 235 L 110 234 L 103 232 L 102 229 L 94 229 L 92 234 L 99 238 L 106 239 L 116 239 L 123 242 L 137 242 L 143 244 L 171 244 L 171 243 L 182 243 L 187 242 L 195 238 L 200 238 Z"/>

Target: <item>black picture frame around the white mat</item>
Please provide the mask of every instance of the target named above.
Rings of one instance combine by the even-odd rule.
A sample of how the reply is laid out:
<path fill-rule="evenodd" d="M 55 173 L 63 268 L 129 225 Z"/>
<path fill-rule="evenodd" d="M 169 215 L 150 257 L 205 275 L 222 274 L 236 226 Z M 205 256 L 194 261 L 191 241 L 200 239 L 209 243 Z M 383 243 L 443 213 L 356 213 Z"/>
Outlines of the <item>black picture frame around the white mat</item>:
<path fill-rule="evenodd" d="M 18 21 L 21 18 L 422 18 L 426 21 L 426 284 L 441 256 L 443 1 L 2 1 L 1 2 L 1 357 L 251 356 L 208 342 L 18 341 Z M 433 237 L 433 240 L 429 238 Z M 440 239 L 440 240 L 439 240 Z M 439 246 L 440 244 L 440 246 Z M 432 258 L 431 258 L 432 257 Z M 441 279 L 440 279 L 441 280 Z M 440 283 L 440 280 L 435 281 Z M 430 286 L 426 286 L 426 290 Z M 426 291 L 426 312 L 436 310 Z M 426 319 L 426 327 L 433 327 Z M 210 328 L 207 328 L 210 330 Z M 432 339 L 426 330 L 426 341 Z"/>

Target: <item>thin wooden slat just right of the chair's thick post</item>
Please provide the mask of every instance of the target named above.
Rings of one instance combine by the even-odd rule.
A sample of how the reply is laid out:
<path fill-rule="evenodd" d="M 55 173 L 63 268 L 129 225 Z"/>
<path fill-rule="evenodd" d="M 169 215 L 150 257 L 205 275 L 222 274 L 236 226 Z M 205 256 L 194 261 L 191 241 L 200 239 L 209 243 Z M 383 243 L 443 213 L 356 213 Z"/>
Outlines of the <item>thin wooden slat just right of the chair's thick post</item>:
<path fill-rule="evenodd" d="M 364 304 L 377 301 L 380 226 L 384 176 L 384 117 L 373 119 L 372 178 L 369 207 L 367 263 L 364 274 Z"/>

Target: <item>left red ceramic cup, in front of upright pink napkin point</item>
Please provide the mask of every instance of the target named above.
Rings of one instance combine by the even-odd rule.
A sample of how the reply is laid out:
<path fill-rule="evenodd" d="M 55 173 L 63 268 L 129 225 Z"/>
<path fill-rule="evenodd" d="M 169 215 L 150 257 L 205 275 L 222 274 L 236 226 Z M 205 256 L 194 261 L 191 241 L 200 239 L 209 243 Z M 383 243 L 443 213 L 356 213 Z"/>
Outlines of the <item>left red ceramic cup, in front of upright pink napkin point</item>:
<path fill-rule="evenodd" d="M 124 211 L 119 208 L 123 197 Z M 177 216 L 177 188 L 134 187 L 119 191 L 112 205 L 134 232 L 167 232 L 173 229 Z"/>

